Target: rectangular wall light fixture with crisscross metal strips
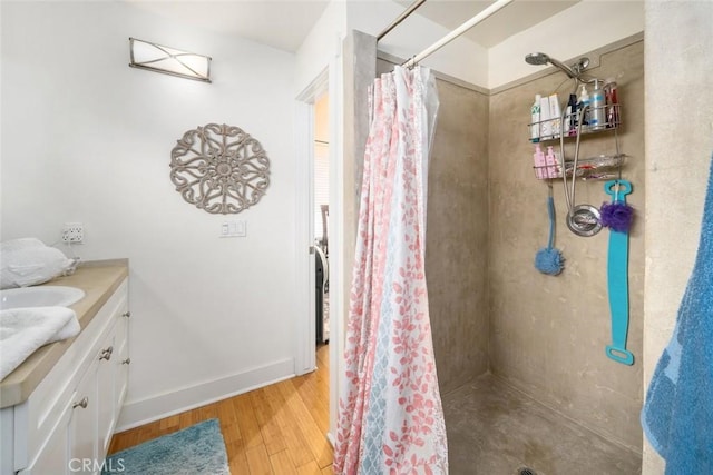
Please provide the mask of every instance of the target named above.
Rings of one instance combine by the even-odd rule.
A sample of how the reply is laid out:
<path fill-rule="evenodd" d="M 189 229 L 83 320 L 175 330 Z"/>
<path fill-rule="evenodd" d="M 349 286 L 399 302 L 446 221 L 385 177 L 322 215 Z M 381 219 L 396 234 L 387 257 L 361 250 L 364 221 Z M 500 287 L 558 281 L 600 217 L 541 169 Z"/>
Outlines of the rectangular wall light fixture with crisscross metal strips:
<path fill-rule="evenodd" d="M 131 68 L 211 82 L 211 57 L 129 38 Z"/>

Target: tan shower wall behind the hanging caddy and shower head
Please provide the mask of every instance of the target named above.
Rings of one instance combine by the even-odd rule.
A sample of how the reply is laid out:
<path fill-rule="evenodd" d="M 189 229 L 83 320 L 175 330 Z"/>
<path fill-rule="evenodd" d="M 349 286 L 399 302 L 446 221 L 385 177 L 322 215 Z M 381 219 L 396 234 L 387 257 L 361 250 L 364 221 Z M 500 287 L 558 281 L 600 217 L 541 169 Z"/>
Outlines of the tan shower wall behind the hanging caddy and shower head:
<path fill-rule="evenodd" d="M 609 231 L 577 237 L 565 221 L 561 181 L 555 182 L 555 247 L 566 258 L 561 275 L 534 267 L 536 251 L 547 245 L 545 182 L 533 172 L 534 145 L 528 141 L 529 107 L 536 93 L 557 91 L 572 82 L 556 72 L 496 92 L 489 111 L 489 357 L 490 370 L 525 393 L 608 439 L 641 452 L 642 340 L 644 294 L 644 44 L 636 40 L 599 55 L 588 55 L 589 75 L 615 77 L 622 106 L 621 150 L 627 154 L 623 178 L 633 184 L 627 197 L 636 209 L 629 232 L 629 330 L 633 366 L 605 356 L 611 344 L 607 296 Z M 592 90 L 592 87 L 589 87 Z M 559 142 L 555 145 L 559 149 Z M 575 142 L 567 139 L 566 156 Z M 611 131 L 585 136 L 582 158 L 616 150 Z M 599 207 L 609 201 L 602 181 L 578 181 L 576 204 Z M 429 229 L 430 232 L 430 229 Z M 430 281 L 429 281 L 430 285 Z M 440 368 L 439 368 L 440 370 Z"/>

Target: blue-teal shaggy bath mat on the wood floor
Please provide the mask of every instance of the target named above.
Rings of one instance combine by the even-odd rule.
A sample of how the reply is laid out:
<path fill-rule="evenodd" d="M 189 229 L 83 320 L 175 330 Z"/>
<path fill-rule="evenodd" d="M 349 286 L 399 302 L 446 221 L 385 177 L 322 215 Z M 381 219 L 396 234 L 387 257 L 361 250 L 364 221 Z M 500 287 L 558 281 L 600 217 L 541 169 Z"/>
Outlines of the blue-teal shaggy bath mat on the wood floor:
<path fill-rule="evenodd" d="M 205 420 L 107 457 L 102 475 L 229 475 L 218 419 Z"/>

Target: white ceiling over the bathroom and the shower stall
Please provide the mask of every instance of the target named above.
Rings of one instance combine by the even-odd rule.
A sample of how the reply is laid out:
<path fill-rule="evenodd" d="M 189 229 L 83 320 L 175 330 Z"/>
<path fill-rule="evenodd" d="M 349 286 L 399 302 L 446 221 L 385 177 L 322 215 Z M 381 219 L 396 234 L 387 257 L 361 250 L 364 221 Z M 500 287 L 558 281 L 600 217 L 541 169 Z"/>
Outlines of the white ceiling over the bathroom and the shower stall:
<path fill-rule="evenodd" d="M 302 44 L 329 3 L 329 0 L 125 1 L 174 21 L 221 33 L 236 34 L 292 52 Z M 485 48 L 490 48 L 578 1 L 515 0 L 465 36 Z M 412 0 L 397 0 L 397 3 L 406 9 Z M 413 14 L 421 14 L 452 30 L 490 3 L 492 1 L 427 0 Z"/>

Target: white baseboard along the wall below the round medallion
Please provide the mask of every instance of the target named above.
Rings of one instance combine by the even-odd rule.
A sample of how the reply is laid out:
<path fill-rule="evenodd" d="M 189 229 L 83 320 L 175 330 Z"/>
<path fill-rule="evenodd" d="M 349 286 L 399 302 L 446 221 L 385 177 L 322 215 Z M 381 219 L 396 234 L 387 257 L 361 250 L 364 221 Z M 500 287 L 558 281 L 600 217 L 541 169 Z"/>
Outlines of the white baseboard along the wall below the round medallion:
<path fill-rule="evenodd" d="M 232 376 L 124 404 L 115 433 L 128 431 L 217 400 L 247 393 L 294 376 L 294 359 L 286 358 Z M 236 389 L 238 388 L 238 389 Z"/>

